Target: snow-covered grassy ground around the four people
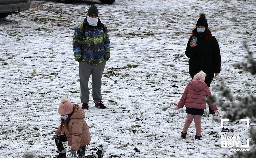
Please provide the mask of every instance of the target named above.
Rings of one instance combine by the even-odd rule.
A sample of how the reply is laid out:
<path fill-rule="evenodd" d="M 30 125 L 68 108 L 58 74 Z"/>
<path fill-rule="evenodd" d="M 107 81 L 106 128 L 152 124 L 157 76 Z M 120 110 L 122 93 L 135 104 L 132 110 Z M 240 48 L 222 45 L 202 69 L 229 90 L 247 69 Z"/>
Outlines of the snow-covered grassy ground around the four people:
<path fill-rule="evenodd" d="M 108 109 L 95 109 L 90 100 L 85 111 L 92 138 L 88 154 L 103 147 L 104 157 L 111 158 L 230 157 L 231 148 L 220 147 L 221 134 L 240 135 L 246 143 L 245 123 L 225 123 L 231 130 L 223 131 L 211 120 L 208 108 L 202 118 L 202 139 L 194 139 L 193 122 L 182 139 L 185 107 L 173 108 L 191 80 L 185 49 L 200 12 L 206 14 L 221 50 L 221 73 L 212 87 L 222 77 L 234 95 L 255 94 L 255 76 L 232 66 L 245 61 L 244 40 L 255 50 L 254 0 L 116 0 L 112 5 L 45 0 L 32 1 L 29 10 L 0 19 L 1 158 L 56 154 L 50 138 L 59 126 L 60 98 L 67 95 L 72 103 L 80 103 L 74 29 L 92 4 L 108 27 L 111 53 L 102 77 Z M 51 76 L 52 72 L 58 76 Z M 224 111 L 220 113 L 222 118 Z"/>

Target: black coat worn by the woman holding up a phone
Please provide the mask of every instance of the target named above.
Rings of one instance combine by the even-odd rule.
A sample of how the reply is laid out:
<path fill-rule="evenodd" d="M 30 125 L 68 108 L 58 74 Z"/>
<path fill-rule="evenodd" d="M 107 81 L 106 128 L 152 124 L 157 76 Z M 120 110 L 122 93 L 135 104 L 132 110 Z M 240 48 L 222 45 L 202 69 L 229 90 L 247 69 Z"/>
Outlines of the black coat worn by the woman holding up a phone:
<path fill-rule="evenodd" d="M 192 39 L 190 37 L 185 52 L 186 56 L 190 58 L 188 62 L 190 71 L 203 70 L 206 72 L 220 73 L 221 57 L 216 38 L 213 36 L 213 39 L 205 41 L 197 34 L 194 36 L 197 37 L 197 46 L 194 48 L 190 47 L 190 41 Z"/>

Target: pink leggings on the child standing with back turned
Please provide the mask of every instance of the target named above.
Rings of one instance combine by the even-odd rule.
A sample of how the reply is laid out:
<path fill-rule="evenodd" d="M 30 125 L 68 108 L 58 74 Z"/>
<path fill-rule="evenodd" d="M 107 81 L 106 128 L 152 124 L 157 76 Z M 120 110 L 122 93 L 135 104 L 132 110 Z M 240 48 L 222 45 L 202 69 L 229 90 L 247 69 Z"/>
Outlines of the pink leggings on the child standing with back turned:
<path fill-rule="evenodd" d="M 195 117 L 195 119 L 194 119 L 194 117 Z M 200 115 L 191 115 L 191 114 L 187 113 L 187 120 L 184 124 L 183 133 L 187 133 L 188 128 L 194 119 L 195 126 L 196 126 L 196 135 L 200 136 L 201 135 L 201 118 L 202 118 L 202 116 L 200 116 Z"/>

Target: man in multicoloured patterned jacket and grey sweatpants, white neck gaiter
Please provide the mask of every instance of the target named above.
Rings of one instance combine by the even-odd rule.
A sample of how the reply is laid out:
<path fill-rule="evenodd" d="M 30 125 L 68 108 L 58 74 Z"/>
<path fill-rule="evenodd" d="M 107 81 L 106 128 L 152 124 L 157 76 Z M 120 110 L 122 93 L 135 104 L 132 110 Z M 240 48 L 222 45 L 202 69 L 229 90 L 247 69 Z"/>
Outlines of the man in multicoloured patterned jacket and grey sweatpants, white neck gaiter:
<path fill-rule="evenodd" d="M 92 5 L 87 17 L 77 26 L 73 38 L 74 58 L 79 62 L 82 108 L 88 109 L 88 81 L 92 76 L 92 96 L 95 107 L 107 108 L 102 103 L 101 78 L 110 57 L 108 30 L 98 18 L 98 9 Z"/>

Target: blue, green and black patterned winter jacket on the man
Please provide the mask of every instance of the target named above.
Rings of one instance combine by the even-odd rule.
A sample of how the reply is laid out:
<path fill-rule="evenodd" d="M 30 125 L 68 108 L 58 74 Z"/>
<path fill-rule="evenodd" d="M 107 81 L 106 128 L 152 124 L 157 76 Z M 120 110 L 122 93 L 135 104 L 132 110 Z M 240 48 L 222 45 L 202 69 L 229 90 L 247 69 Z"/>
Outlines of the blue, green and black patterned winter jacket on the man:
<path fill-rule="evenodd" d="M 85 30 L 84 36 L 83 29 Z M 87 18 L 85 18 L 82 24 L 77 26 L 73 38 L 73 51 L 76 61 L 84 61 L 97 65 L 104 59 L 109 59 L 110 45 L 108 30 L 106 25 L 100 22 L 100 18 L 98 18 L 97 26 L 93 27 L 89 25 Z"/>

